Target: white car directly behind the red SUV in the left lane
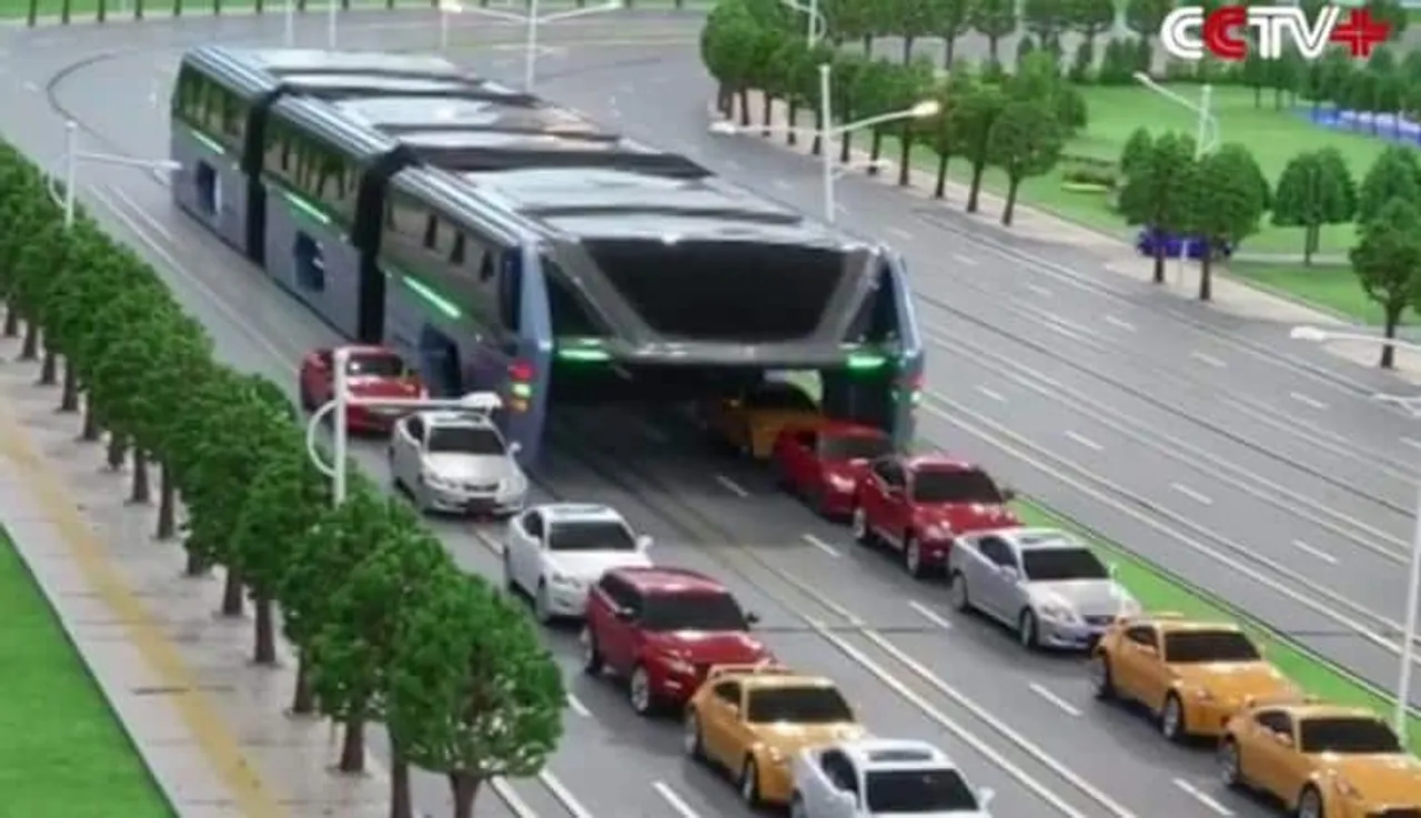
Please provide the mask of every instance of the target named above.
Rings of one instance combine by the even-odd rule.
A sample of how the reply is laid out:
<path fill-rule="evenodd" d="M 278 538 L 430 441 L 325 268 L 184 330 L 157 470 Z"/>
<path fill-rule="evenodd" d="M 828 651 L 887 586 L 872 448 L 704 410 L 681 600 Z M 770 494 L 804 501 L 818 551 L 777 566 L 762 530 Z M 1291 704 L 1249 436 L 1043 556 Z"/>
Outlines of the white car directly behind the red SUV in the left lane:
<path fill-rule="evenodd" d="M 503 582 L 527 594 L 539 622 L 580 618 L 587 591 L 611 568 L 645 568 L 651 537 L 607 506 L 550 503 L 509 520 Z"/>

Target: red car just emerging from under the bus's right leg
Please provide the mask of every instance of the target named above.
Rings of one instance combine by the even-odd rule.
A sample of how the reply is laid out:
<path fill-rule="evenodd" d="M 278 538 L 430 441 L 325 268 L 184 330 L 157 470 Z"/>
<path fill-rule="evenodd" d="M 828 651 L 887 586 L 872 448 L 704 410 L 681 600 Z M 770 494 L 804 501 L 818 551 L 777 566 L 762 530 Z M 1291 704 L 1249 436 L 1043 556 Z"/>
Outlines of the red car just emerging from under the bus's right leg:
<path fill-rule="evenodd" d="M 868 464 L 890 453 L 892 440 L 881 429 L 824 420 L 780 432 L 770 463 L 780 486 L 824 517 L 840 517 L 854 510 Z"/>

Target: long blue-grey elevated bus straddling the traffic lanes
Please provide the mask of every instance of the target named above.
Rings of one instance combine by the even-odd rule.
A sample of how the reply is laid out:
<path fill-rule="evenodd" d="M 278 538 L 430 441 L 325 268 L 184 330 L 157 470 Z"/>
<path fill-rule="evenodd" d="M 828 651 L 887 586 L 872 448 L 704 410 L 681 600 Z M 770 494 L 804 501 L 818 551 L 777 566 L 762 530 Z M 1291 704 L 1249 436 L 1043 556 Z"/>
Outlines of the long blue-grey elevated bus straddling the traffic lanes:
<path fill-rule="evenodd" d="M 249 256 L 325 321 L 436 392 L 502 393 L 526 459 L 554 405 L 685 400 L 769 369 L 816 371 L 827 415 L 911 440 L 922 345 L 899 256 L 570 111 L 470 77 L 378 87 L 378 55 L 358 57 L 369 74 L 342 68 L 340 91 L 288 81 L 249 105 L 223 153 L 200 122 L 180 125 L 183 155 L 175 136 L 185 170 L 242 169 L 263 197 Z M 185 60 L 178 94 L 212 71 Z M 179 179 L 179 202 L 200 189 Z"/>

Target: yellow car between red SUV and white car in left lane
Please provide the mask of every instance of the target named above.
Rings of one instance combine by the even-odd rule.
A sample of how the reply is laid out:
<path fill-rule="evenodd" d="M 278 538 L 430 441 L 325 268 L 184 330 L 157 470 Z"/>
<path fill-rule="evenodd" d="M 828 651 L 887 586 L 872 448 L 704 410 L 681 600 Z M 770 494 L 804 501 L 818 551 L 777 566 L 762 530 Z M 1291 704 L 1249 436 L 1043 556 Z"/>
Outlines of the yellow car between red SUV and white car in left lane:
<path fill-rule="evenodd" d="M 686 704 L 686 754 L 735 777 L 750 807 L 789 804 L 804 747 L 868 731 L 828 679 L 776 665 L 722 665 Z"/>

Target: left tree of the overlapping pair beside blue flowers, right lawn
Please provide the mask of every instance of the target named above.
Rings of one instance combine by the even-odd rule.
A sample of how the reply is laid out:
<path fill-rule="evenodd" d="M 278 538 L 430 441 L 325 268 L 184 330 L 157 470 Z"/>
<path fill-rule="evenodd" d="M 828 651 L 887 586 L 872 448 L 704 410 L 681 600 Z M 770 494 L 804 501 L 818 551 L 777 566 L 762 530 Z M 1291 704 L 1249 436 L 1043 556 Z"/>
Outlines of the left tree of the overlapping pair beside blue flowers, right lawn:
<path fill-rule="evenodd" d="M 1182 234 L 1188 222 L 1195 145 L 1182 133 L 1161 133 L 1120 189 L 1120 213 L 1127 224 Z M 1154 283 L 1164 284 L 1164 241 L 1155 241 Z"/>

